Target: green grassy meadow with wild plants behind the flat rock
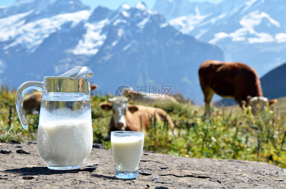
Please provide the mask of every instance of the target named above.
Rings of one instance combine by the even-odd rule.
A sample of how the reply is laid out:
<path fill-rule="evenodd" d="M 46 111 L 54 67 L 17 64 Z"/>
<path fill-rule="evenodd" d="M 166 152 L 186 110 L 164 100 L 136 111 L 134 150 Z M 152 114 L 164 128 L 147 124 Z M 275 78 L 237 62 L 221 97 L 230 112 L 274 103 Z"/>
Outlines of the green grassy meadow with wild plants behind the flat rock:
<path fill-rule="evenodd" d="M 22 143 L 37 140 L 39 115 L 25 113 L 28 128 L 22 128 L 16 108 L 15 90 L 0 87 L 0 142 Z M 91 97 L 94 143 L 106 141 L 112 111 L 103 111 L 99 103 L 106 97 Z M 165 122 L 152 120 L 144 150 L 171 155 L 238 159 L 268 162 L 286 168 L 286 98 L 265 113 L 252 115 L 238 106 L 212 107 L 212 116 L 203 116 L 204 107 L 191 103 L 153 104 L 168 112 L 175 123 L 171 135 Z"/>

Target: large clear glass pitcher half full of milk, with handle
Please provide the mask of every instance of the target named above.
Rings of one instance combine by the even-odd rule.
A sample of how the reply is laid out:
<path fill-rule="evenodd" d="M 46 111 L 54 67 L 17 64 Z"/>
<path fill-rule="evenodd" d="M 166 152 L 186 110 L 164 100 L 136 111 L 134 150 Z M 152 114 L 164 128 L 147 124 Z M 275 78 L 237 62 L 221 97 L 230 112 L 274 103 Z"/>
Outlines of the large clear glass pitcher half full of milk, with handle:
<path fill-rule="evenodd" d="M 81 167 L 93 143 L 88 67 L 75 67 L 43 82 L 27 81 L 16 93 L 16 109 L 23 128 L 23 96 L 29 89 L 42 90 L 37 146 L 49 169 L 71 170 Z"/>

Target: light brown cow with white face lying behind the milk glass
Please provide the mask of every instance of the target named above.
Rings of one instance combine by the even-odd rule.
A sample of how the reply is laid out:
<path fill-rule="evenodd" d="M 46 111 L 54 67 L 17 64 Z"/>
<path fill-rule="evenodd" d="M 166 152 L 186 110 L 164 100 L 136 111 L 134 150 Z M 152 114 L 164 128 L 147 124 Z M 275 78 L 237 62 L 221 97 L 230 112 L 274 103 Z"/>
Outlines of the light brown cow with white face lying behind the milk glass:
<path fill-rule="evenodd" d="M 130 105 L 121 103 L 117 99 L 108 99 L 109 103 L 103 102 L 100 104 L 100 108 L 103 110 L 113 110 L 108 133 L 118 130 L 141 131 L 141 125 L 142 130 L 146 132 L 151 124 L 150 118 L 154 115 L 158 121 L 166 118 L 171 130 L 174 129 L 174 123 L 170 116 L 161 108 Z"/>

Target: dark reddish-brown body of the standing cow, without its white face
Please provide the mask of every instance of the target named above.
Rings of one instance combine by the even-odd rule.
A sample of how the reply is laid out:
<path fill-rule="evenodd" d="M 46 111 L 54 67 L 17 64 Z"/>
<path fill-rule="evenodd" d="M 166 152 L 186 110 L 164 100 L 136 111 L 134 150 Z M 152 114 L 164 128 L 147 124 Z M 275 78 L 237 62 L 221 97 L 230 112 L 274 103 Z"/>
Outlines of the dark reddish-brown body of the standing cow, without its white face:
<path fill-rule="evenodd" d="M 211 115 L 210 102 L 214 93 L 234 98 L 241 108 L 245 103 L 249 104 L 249 97 L 263 97 L 258 74 L 241 62 L 207 60 L 199 67 L 198 76 L 205 96 L 205 115 Z M 253 99 L 252 104 L 259 99 Z M 268 103 L 271 105 L 276 101 L 268 100 Z"/>

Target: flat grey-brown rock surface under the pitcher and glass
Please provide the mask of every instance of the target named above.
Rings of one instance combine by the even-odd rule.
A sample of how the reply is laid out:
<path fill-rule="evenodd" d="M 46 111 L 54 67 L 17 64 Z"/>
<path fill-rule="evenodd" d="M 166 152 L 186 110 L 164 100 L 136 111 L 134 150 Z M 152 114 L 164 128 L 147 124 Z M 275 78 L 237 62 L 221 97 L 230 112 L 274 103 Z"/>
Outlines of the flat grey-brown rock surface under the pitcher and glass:
<path fill-rule="evenodd" d="M 0 188 L 286 188 L 283 169 L 260 162 L 190 159 L 144 152 L 134 180 L 114 177 L 110 150 L 93 148 L 79 170 L 46 167 L 33 143 L 0 143 Z M 162 169 L 163 168 L 163 169 Z M 150 174 L 151 173 L 151 174 Z"/>

